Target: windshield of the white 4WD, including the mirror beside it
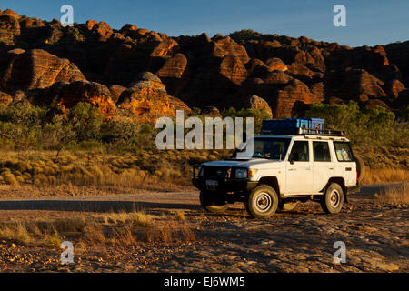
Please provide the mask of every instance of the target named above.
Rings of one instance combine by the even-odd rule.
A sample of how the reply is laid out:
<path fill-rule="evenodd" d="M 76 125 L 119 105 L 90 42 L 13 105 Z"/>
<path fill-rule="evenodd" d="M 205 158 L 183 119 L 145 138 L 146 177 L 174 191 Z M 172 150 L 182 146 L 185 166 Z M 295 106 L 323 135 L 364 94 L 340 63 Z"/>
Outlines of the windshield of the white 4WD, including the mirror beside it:
<path fill-rule="evenodd" d="M 279 137 L 254 137 L 254 151 L 253 154 L 245 155 L 246 158 L 268 158 L 274 160 L 284 159 L 287 153 L 288 146 L 290 145 L 291 138 L 279 138 Z M 232 158 L 237 157 L 237 153 L 245 153 L 245 147 L 243 150 L 236 150 Z M 243 158 L 243 157 L 242 157 Z"/>

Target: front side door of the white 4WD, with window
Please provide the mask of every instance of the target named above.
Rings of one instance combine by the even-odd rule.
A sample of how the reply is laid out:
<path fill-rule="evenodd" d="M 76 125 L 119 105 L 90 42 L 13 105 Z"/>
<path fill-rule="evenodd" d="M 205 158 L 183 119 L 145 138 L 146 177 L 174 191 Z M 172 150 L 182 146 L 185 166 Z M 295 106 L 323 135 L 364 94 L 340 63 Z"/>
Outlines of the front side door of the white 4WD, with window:
<path fill-rule="evenodd" d="M 313 168 L 308 141 L 294 141 L 286 163 L 285 194 L 311 193 Z"/>

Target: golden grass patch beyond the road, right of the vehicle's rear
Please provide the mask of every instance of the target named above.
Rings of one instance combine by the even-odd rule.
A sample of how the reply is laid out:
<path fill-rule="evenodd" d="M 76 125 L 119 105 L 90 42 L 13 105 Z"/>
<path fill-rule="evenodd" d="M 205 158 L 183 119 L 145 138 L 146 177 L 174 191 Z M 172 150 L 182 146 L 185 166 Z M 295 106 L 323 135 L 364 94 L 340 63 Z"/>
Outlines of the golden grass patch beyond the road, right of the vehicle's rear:
<path fill-rule="evenodd" d="M 366 173 L 362 183 L 364 185 L 405 182 L 409 181 L 409 170 L 396 168 L 370 169 L 366 168 Z"/>

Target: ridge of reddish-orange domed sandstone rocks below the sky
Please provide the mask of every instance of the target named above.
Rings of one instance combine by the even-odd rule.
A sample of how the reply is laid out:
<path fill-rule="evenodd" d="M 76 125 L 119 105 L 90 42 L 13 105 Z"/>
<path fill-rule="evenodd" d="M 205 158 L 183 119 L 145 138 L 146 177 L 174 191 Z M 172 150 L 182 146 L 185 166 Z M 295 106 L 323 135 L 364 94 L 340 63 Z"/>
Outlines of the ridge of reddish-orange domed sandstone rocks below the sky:
<path fill-rule="evenodd" d="M 34 95 L 33 90 L 64 87 L 79 90 L 80 96 L 66 93 L 71 101 L 60 100 L 61 105 L 93 100 L 105 115 L 113 115 L 115 106 L 107 101 L 112 99 L 138 118 L 172 115 L 178 106 L 188 110 L 186 105 L 247 106 L 251 95 L 265 100 L 274 116 L 322 101 L 399 108 L 409 103 L 408 64 L 409 42 L 351 48 L 305 36 L 171 37 L 131 24 L 119 31 L 94 20 L 62 27 L 56 19 L 43 22 L 11 10 L 0 14 L 3 103 L 16 90 Z M 138 85 L 125 88 L 145 71 L 160 80 L 138 79 Z M 76 84 L 85 76 L 97 83 Z M 67 84 L 54 86 L 58 82 Z M 109 92 L 100 85 L 109 85 Z"/>

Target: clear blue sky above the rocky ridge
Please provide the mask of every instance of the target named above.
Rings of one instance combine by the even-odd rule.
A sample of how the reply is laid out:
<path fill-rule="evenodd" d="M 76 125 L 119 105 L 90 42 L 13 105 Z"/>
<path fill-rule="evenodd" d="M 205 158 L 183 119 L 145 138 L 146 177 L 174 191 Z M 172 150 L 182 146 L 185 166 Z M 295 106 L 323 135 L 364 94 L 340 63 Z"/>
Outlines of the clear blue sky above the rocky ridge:
<path fill-rule="evenodd" d="M 73 5 L 74 21 L 126 23 L 167 35 L 228 35 L 240 29 L 301 35 L 341 45 L 385 45 L 409 39 L 409 0 L 0 0 L 0 8 L 45 20 Z M 334 5 L 346 7 L 346 27 L 333 25 Z"/>

